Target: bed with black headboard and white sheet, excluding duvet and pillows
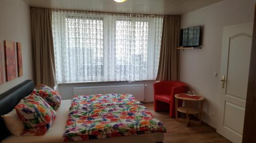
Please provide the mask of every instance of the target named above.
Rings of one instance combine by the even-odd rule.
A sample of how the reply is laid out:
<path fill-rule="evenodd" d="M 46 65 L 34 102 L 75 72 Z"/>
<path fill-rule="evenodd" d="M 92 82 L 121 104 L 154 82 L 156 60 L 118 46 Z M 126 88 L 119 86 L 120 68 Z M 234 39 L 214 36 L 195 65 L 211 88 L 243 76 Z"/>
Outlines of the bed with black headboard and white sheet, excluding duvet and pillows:
<path fill-rule="evenodd" d="M 9 91 L 0 95 L 0 114 L 4 115 L 11 111 L 14 106 L 19 102 L 20 99 L 29 95 L 29 93 L 33 90 L 34 83 L 32 80 L 26 80 L 23 83 L 20 83 L 16 87 L 10 89 Z M 62 100 L 59 109 L 57 110 L 57 117 L 54 121 L 52 127 L 48 130 L 45 135 L 42 136 L 14 136 L 9 133 L 6 129 L 2 119 L 0 120 L 1 124 L 1 139 L 3 139 L 2 143 L 30 143 L 30 142 L 38 142 L 38 143 L 59 143 L 64 141 L 63 133 L 66 131 L 65 124 L 67 122 L 67 118 L 69 116 L 69 109 L 72 106 L 72 100 Z M 2 128 L 4 127 L 4 128 Z M 164 138 L 164 133 L 156 132 L 150 134 L 136 134 L 136 135 L 128 135 L 128 136 L 120 136 L 120 137 L 112 137 L 112 138 L 100 138 L 100 139 L 92 139 L 87 141 L 67 141 L 67 142 L 89 142 L 89 143 L 97 143 L 97 142 L 162 142 Z"/>

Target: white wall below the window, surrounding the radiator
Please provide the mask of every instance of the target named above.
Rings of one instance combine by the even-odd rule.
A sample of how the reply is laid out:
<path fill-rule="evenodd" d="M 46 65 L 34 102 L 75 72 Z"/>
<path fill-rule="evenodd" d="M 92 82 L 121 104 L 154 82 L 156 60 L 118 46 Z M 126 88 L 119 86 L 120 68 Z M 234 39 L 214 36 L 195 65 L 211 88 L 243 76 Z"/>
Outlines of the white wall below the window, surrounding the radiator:
<path fill-rule="evenodd" d="M 73 96 L 73 87 L 94 87 L 94 86 L 105 86 L 105 85 L 127 85 L 127 84 L 146 84 L 144 95 L 145 102 L 153 102 L 154 101 L 154 90 L 153 83 L 155 80 L 147 80 L 147 81 L 135 81 L 135 82 L 127 82 L 127 81 L 118 81 L 118 82 L 91 82 L 91 83 L 65 83 L 58 84 L 56 90 L 61 95 L 63 100 L 72 99 Z"/>

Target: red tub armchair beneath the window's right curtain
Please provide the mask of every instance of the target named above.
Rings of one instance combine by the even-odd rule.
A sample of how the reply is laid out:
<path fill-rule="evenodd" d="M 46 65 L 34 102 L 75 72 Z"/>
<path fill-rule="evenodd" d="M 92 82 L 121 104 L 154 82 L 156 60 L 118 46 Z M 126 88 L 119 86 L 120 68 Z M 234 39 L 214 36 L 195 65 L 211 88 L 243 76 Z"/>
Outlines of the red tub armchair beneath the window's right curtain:
<path fill-rule="evenodd" d="M 168 109 L 169 116 L 175 117 L 175 94 L 186 93 L 188 90 L 187 84 L 181 81 L 160 81 L 154 83 L 154 110 L 161 111 Z M 164 103 L 163 103 L 164 102 Z M 178 102 L 179 106 L 182 101 Z"/>

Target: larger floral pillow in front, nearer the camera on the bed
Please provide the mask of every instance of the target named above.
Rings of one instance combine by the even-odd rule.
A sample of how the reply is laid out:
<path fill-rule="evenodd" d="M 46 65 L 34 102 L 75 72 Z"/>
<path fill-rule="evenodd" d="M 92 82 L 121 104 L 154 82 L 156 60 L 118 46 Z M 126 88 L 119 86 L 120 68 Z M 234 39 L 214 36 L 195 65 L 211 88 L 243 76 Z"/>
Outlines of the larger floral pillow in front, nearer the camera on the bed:
<path fill-rule="evenodd" d="M 15 106 L 19 119 L 24 123 L 22 135 L 44 135 L 56 118 L 56 111 L 34 92 Z"/>

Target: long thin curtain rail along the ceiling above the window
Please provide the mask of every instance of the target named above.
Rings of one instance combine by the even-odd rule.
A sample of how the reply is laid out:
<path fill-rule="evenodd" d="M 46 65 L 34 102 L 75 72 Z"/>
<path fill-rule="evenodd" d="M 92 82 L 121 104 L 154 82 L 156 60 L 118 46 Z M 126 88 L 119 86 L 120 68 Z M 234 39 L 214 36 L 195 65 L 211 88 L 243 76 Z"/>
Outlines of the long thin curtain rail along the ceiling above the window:
<path fill-rule="evenodd" d="M 31 8 L 39 8 L 39 7 L 31 7 Z M 52 9 L 52 8 L 46 8 Z M 110 13 L 110 14 L 126 14 L 126 15 L 148 15 L 148 16 L 164 16 L 161 14 L 136 14 L 136 13 L 121 13 L 121 12 L 103 12 L 103 11 L 88 11 L 88 10 L 72 10 L 72 9 L 52 9 L 52 10 L 67 10 L 67 11 L 83 11 L 83 12 L 97 12 L 97 13 Z"/>

